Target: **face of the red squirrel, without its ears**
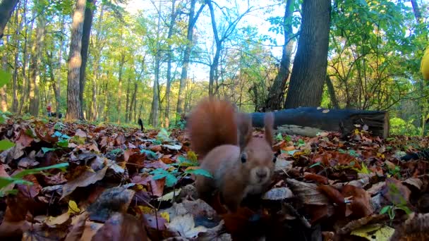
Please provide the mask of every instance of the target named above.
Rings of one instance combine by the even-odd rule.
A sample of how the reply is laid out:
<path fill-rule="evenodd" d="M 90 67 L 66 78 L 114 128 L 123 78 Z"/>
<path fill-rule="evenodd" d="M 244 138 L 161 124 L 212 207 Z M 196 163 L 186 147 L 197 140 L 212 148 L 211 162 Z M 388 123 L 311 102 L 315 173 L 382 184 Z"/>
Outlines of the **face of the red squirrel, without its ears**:
<path fill-rule="evenodd" d="M 251 185 L 270 182 L 274 172 L 274 154 L 265 140 L 253 138 L 241 153 L 240 159 Z"/>

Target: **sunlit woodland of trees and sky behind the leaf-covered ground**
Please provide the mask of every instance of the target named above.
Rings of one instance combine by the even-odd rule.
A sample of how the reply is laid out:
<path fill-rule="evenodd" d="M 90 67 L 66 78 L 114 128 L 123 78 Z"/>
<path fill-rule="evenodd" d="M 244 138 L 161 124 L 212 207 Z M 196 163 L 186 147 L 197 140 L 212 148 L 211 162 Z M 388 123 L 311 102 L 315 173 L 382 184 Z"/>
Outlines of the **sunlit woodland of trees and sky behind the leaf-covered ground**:
<path fill-rule="evenodd" d="M 45 115 L 51 102 L 68 118 L 176 127 L 213 94 L 249 112 L 385 110 L 392 134 L 425 135 L 426 0 L 6 1 L 4 112 Z"/>

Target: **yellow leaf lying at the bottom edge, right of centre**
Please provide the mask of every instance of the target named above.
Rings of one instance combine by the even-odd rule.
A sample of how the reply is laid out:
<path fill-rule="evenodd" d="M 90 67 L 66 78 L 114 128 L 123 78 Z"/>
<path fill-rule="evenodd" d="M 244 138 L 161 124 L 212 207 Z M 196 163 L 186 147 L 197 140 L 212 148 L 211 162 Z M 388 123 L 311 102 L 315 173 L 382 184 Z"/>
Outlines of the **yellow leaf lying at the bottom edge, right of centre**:
<path fill-rule="evenodd" d="M 373 224 L 355 229 L 351 232 L 351 235 L 364 237 L 367 240 L 387 241 L 392 237 L 393 233 L 394 229 L 389 226 Z"/>

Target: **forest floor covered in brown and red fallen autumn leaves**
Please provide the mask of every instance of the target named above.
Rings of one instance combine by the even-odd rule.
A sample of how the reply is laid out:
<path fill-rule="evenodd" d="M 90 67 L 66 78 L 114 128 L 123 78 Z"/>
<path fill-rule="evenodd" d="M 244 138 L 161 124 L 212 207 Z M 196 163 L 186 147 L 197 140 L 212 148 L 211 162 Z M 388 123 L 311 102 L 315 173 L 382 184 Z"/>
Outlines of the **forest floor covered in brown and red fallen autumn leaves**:
<path fill-rule="evenodd" d="M 277 135 L 262 199 L 219 214 L 195 194 L 183 130 L 0 121 L 0 237 L 16 240 L 427 240 L 428 138 Z M 255 130 L 254 135 L 261 135 Z M 256 200 L 256 201 L 255 201 Z M 395 231 L 396 230 L 396 231 Z"/>

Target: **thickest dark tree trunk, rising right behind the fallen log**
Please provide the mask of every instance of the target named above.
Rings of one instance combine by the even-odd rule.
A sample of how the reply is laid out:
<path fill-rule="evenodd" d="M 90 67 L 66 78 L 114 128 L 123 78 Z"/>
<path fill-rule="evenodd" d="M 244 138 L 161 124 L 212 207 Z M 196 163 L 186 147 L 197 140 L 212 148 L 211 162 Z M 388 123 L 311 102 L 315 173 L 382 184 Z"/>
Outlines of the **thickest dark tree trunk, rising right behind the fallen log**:
<path fill-rule="evenodd" d="M 285 108 L 319 106 L 327 70 L 329 0 L 304 0 L 301 33 Z"/>

